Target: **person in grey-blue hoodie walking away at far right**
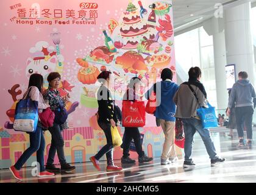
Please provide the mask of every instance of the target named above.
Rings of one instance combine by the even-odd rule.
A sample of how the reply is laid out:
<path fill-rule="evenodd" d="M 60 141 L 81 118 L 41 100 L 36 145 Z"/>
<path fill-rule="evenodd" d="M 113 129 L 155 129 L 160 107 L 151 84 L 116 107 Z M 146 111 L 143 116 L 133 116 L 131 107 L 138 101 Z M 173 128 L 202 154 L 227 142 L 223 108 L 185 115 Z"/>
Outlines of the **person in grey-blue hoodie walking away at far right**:
<path fill-rule="evenodd" d="M 239 144 L 238 147 L 244 147 L 244 131 L 243 118 L 247 132 L 247 147 L 252 148 L 252 115 L 254 114 L 254 98 L 256 94 L 254 87 L 250 83 L 248 74 L 240 72 L 238 74 L 239 80 L 233 85 L 229 97 L 229 105 L 227 108 L 227 116 L 230 114 L 230 108 L 235 103 L 235 119 L 238 132 Z"/>

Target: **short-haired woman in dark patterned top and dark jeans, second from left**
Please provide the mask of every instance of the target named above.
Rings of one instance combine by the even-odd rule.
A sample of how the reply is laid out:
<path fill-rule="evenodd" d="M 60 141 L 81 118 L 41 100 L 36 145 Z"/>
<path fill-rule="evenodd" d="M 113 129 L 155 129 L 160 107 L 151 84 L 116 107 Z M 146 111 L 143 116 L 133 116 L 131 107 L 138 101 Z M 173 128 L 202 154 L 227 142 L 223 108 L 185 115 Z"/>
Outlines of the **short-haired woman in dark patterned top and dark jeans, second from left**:
<path fill-rule="evenodd" d="M 58 171 L 72 171 L 75 169 L 75 166 L 71 166 L 66 163 L 66 158 L 64 154 L 64 140 L 62 137 L 62 130 L 68 129 L 68 114 L 65 109 L 65 101 L 70 98 L 69 94 L 64 99 L 60 97 L 60 93 L 57 90 L 60 85 L 60 74 L 57 72 L 50 73 L 47 77 L 49 82 L 49 88 L 43 94 L 45 101 L 49 102 L 51 110 L 55 113 L 54 125 L 49 127 L 48 130 L 52 135 L 51 147 L 49 149 L 48 160 L 46 164 L 46 170 L 51 172 Z M 60 161 L 60 169 L 54 166 L 54 157 L 57 151 L 57 155 Z"/>

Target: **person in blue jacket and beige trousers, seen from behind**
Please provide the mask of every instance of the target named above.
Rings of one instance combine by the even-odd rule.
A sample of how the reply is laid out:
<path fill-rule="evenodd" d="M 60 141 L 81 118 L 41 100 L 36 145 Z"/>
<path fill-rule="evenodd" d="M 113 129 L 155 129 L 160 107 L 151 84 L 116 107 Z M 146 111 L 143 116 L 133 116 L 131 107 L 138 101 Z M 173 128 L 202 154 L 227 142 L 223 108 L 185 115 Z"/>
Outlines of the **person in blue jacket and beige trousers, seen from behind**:
<path fill-rule="evenodd" d="M 157 108 L 154 116 L 160 121 L 165 134 L 165 143 L 163 144 L 163 152 L 161 156 L 161 165 L 174 163 L 177 161 L 174 138 L 175 138 L 175 112 L 176 105 L 172 101 L 174 94 L 179 86 L 172 82 L 172 71 L 165 68 L 161 73 L 161 82 L 155 83 L 145 94 L 149 99 L 152 91 L 157 95 Z"/>

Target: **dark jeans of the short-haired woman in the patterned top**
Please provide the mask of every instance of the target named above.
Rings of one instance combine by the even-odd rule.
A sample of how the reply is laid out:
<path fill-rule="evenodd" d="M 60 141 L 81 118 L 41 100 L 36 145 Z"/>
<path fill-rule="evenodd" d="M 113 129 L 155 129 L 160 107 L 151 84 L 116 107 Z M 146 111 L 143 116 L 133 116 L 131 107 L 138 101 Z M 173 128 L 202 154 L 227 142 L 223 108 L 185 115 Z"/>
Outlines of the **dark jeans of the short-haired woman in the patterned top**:
<path fill-rule="evenodd" d="M 49 149 L 47 165 L 52 165 L 54 163 L 54 157 L 57 151 L 57 155 L 60 161 L 60 165 L 66 164 L 66 158 L 64 154 L 64 140 L 62 137 L 62 132 L 60 130 L 59 124 L 54 122 L 52 127 L 48 128 L 52 135 L 51 147 Z"/>

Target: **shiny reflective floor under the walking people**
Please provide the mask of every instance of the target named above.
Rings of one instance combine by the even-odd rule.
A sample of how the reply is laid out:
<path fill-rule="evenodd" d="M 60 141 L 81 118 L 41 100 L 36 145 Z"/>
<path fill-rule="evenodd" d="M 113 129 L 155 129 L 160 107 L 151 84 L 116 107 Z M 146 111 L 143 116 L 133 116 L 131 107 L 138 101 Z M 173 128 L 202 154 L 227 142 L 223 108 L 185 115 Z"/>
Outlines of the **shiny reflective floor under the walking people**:
<path fill-rule="evenodd" d="M 254 130 L 254 140 L 255 140 Z M 155 158 L 152 163 L 133 166 L 123 166 L 121 172 L 106 172 L 105 161 L 101 162 L 101 172 L 96 171 L 91 163 L 79 163 L 76 170 L 57 174 L 54 177 L 41 178 L 33 177 L 32 168 L 23 168 L 24 180 L 18 181 L 12 177 L 8 169 L 0 170 L 0 182 L 256 182 L 256 145 L 253 149 L 237 148 L 237 133 L 232 139 L 227 135 L 226 129 L 212 131 L 212 138 L 216 151 L 221 157 L 227 159 L 226 163 L 217 167 L 210 166 L 210 159 L 205 151 L 204 143 L 198 133 L 194 138 L 193 160 L 196 163 L 194 169 L 183 169 L 183 158 L 179 157 L 177 163 L 172 165 L 160 165 L 160 158 Z M 115 162 L 121 166 L 121 161 Z"/>

